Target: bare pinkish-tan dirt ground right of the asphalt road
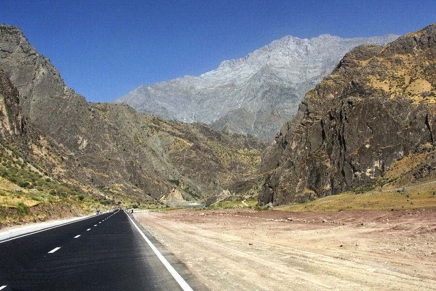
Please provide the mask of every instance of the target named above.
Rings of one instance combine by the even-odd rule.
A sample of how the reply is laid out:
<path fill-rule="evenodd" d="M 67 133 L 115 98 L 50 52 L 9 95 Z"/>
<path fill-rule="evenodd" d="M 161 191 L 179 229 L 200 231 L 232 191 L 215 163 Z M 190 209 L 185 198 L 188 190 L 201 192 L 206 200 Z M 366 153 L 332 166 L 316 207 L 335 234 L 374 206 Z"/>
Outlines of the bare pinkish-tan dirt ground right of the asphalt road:
<path fill-rule="evenodd" d="M 436 290 L 436 211 L 134 214 L 210 290 Z"/>

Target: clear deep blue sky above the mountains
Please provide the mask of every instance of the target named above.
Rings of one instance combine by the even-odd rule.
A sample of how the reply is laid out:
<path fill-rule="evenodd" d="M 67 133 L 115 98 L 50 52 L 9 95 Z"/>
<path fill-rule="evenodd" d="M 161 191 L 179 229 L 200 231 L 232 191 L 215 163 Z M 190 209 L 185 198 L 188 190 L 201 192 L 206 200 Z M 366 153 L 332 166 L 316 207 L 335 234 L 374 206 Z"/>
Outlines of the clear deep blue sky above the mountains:
<path fill-rule="evenodd" d="M 65 83 L 88 101 L 198 76 L 287 34 L 311 38 L 405 34 L 436 22 L 436 1 L 1 1 Z"/>

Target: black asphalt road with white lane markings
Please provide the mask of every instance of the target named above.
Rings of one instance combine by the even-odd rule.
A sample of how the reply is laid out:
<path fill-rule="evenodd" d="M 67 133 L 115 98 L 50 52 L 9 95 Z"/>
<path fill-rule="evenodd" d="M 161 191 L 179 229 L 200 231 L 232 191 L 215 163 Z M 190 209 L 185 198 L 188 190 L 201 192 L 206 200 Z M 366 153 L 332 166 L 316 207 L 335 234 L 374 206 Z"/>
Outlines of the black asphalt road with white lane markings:
<path fill-rule="evenodd" d="M 138 228 L 120 210 L 2 241 L 0 290 L 183 290 Z"/>

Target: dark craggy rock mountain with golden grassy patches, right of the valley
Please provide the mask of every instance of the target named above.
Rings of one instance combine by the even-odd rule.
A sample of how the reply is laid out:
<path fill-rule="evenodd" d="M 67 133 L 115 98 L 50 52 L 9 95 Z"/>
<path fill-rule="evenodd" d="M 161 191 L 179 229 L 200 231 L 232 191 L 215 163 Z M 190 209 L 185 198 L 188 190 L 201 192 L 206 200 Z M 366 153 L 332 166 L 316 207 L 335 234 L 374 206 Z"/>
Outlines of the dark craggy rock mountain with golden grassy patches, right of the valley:
<path fill-rule="evenodd" d="M 436 26 L 363 45 L 303 99 L 262 156 L 259 203 L 338 194 L 371 181 L 436 133 Z"/>

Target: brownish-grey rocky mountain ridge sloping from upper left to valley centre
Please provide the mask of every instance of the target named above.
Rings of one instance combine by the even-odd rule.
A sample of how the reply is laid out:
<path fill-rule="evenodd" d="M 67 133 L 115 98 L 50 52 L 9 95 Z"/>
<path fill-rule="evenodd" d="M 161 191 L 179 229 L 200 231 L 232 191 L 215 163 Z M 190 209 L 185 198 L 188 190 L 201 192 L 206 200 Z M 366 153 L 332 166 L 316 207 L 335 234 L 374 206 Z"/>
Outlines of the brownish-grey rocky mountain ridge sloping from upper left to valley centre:
<path fill-rule="evenodd" d="M 0 68 L 19 91 L 28 128 L 41 132 L 41 143 L 59 148 L 48 174 L 90 191 L 153 203 L 175 193 L 201 202 L 249 177 L 265 147 L 247 136 L 140 114 L 125 104 L 88 103 L 18 27 L 0 25 Z"/>

